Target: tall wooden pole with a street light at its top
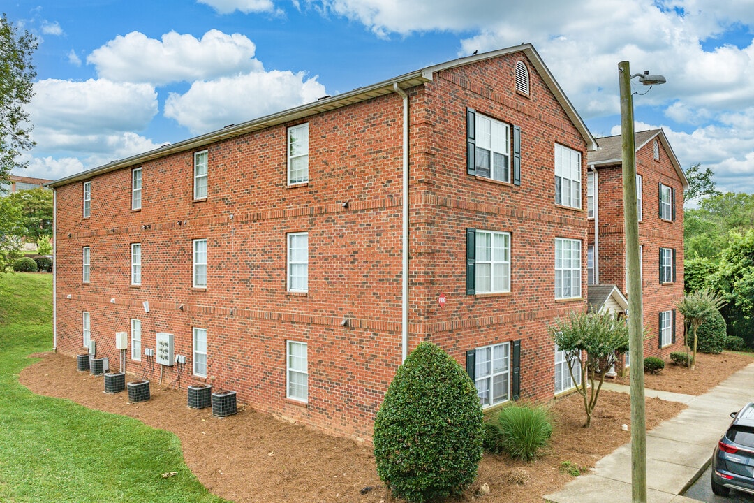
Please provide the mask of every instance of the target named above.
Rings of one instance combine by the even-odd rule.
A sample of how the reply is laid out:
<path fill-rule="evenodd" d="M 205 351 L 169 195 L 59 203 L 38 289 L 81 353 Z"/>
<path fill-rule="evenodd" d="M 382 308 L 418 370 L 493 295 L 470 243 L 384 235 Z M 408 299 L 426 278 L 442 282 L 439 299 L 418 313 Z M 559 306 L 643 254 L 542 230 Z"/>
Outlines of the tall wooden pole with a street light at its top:
<path fill-rule="evenodd" d="M 623 207 L 628 266 L 628 317 L 631 388 L 631 501 L 647 501 L 647 438 L 644 410 L 644 312 L 639 271 L 639 219 L 636 210 L 636 143 L 633 132 L 631 79 L 643 85 L 664 84 L 662 75 L 648 71 L 631 75 L 628 61 L 618 63 L 621 88 L 621 136 L 623 162 Z"/>

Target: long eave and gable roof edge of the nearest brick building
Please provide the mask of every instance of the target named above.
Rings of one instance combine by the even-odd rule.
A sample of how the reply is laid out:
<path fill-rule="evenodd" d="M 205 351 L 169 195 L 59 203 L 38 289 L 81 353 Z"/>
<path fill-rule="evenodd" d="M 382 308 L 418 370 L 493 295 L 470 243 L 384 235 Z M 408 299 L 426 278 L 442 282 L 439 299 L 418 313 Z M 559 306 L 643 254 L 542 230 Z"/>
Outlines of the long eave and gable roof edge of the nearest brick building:
<path fill-rule="evenodd" d="M 253 131 L 262 130 L 266 127 L 271 127 L 277 124 L 284 124 L 286 122 L 294 121 L 296 119 L 309 117 L 321 112 L 327 112 L 328 110 L 339 109 L 343 106 L 352 105 L 354 103 L 360 103 L 362 101 L 371 100 L 375 97 L 384 96 L 385 94 L 394 93 L 397 87 L 400 89 L 406 89 L 417 85 L 424 84 L 425 82 L 432 81 L 434 74 L 441 72 L 445 69 L 451 69 L 458 66 L 469 65 L 476 63 L 477 61 L 489 60 L 493 57 L 504 56 L 507 54 L 514 54 L 516 52 L 523 52 L 526 57 L 529 58 L 529 62 L 537 70 L 540 77 L 547 85 L 547 88 L 555 96 L 556 100 L 566 111 L 566 114 L 575 125 L 581 137 L 587 143 L 587 149 L 593 150 L 597 148 L 596 140 L 592 133 L 590 133 L 587 125 L 578 115 L 576 109 L 566 97 L 560 85 L 557 83 L 550 69 L 544 64 L 544 61 L 539 56 L 532 44 L 521 44 L 511 48 L 498 49 L 498 51 L 490 51 L 483 54 L 474 54 L 473 56 L 461 57 L 456 60 L 449 61 L 447 63 L 440 63 L 434 66 L 428 66 L 423 69 L 415 70 L 398 77 L 390 78 L 386 81 L 378 82 L 366 87 L 358 87 L 357 89 L 348 91 L 347 93 L 337 94 L 333 97 L 323 97 L 314 103 L 306 103 L 305 105 L 296 106 L 292 109 L 287 109 L 282 112 L 276 112 L 271 115 L 265 115 L 264 117 L 255 118 L 251 121 L 246 121 L 241 124 L 233 124 L 231 126 L 223 127 L 220 130 L 205 133 L 201 136 L 195 136 L 189 140 L 183 140 L 179 143 L 166 144 L 159 149 L 154 149 L 142 154 L 133 155 L 129 158 L 121 159 L 118 161 L 112 161 L 109 164 L 104 164 L 100 167 L 94 167 L 90 170 L 76 173 L 75 175 L 66 176 L 61 179 L 57 179 L 54 182 L 48 183 L 50 187 L 65 186 L 72 182 L 78 182 L 90 178 L 101 173 L 109 173 L 110 171 L 118 170 L 124 167 L 131 167 L 137 164 L 141 164 L 146 161 L 152 161 L 158 158 L 164 158 L 168 155 L 173 155 L 178 152 L 185 152 L 192 149 L 198 149 L 202 146 L 207 146 L 210 143 L 216 143 L 221 140 L 228 140 L 235 136 L 241 136 Z"/>

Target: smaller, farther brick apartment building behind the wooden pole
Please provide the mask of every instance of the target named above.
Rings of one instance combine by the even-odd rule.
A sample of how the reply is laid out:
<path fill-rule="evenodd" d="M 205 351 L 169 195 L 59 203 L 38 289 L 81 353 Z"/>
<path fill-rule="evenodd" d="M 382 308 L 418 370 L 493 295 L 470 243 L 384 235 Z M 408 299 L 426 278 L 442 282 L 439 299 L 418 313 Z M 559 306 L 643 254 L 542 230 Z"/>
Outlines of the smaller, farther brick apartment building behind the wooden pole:
<path fill-rule="evenodd" d="M 648 332 L 644 354 L 667 359 L 683 346 L 683 317 L 676 313 L 676 303 L 684 295 L 683 190 L 688 180 L 663 130 L 640 131 L 635 141 L 642 306 Z M 600 148 L 588 154 L 587 173 L 587 284 L 595 307 L 611 289 L 615 299 L 630 296 L 621 136 L 599 138 L 597 143 Z M 623 363 L 627 365 L 628 359 Z"/>

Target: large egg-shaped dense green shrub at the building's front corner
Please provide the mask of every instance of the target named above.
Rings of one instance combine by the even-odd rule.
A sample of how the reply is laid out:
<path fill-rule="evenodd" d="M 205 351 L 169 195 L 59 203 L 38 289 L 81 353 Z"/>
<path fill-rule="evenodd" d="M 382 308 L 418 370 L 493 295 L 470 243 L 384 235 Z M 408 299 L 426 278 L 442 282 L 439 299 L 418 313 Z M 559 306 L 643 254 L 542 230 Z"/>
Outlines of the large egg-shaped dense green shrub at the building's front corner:
<path fill-rule="evenodd" d="M 461 492 L 482 459 L 477 388 L 445 351 L 421 342 L 391 382 L 374 426 L 377 473 L 393 494 L 423 503 Z"/>

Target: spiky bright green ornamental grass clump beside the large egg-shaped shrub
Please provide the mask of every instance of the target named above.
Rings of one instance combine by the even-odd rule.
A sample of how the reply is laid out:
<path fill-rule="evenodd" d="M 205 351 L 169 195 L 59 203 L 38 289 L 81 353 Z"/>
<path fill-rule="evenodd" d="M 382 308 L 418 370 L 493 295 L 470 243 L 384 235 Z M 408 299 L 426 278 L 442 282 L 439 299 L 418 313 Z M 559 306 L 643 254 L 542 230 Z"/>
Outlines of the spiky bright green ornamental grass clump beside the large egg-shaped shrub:
<path fill-rule="evenodd" d="M 541 405 L 507 406 L 500 411 L 498 428 L 510 457 L 531 461 L 553 434 L 550 409 Z"/>

